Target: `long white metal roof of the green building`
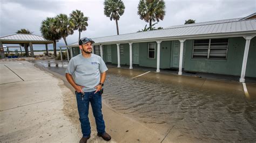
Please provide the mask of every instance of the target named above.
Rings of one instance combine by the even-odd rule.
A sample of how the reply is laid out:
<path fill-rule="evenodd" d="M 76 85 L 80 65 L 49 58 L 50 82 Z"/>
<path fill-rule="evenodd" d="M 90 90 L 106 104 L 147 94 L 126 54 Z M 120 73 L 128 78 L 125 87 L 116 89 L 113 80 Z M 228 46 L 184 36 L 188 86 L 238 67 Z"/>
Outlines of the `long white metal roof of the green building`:
<path fill-rule="evenodd" d="M 112 35 L 108 37 L 92 38 L 95 44 L 111 44 L 114 42 L 136 42 L 143 40 L 156 40 L 156 39 L 175 39 L 175 38 L 193 38 L 198 35 L 224 35 L 224 34 L 256 34 L 256 19 L 241 20 L 225 23 L 214 23 L 204 25 L 194 25 L 183 27 L 164 28 L 161 30 L 153 30 L 146 32 L 137 32 L 121 35 Z M 77 46 L 78 41 L 68 45 L 60 47 L 72 47 Z"/>

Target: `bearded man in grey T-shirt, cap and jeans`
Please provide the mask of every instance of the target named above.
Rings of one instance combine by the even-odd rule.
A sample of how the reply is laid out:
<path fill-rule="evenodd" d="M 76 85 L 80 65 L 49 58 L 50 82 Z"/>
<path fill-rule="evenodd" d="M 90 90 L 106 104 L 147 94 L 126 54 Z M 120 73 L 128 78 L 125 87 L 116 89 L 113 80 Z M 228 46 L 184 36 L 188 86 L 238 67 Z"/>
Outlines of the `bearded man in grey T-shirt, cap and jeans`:
<path fill-rule="evenodd" d="M 77 108 L 83 133 L 80 142 L 86 142 L 91 134 L 88 118 L 89 103 L 92 106 L 98 136 L 107 141 L 111 139 L 110 135 L 105 132 L 105 123 L 102 115 L 101 94 L 107 67 L 100 56 L 91 54 L 93 43 L 95 42 L 90 38 L 80 39 L 79 48 L 82 54 L 73 57 L 66 69 L 66 79 L 76 90 Z"/>

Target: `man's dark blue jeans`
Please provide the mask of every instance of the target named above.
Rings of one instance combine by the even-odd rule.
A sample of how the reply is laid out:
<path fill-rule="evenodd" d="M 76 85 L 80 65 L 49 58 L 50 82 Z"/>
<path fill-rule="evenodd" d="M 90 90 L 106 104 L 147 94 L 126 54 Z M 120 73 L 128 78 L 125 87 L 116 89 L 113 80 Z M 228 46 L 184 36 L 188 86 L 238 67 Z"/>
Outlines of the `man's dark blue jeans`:
<path fill-rule="evenodd" d="M 79 120 L 84 138 L 89 137 L 91 134 L 91 126 L 88 118 L 89 103 L 92 106 L 97 132 L 100 134 L 105 133 L 105 123 L 102 115 L 102 95 L 100 95 L 99 91 L 96 94 L 94 92 L 84 92 L 84 99 L 82 100 L 82 93 L 76 91 Z"/>

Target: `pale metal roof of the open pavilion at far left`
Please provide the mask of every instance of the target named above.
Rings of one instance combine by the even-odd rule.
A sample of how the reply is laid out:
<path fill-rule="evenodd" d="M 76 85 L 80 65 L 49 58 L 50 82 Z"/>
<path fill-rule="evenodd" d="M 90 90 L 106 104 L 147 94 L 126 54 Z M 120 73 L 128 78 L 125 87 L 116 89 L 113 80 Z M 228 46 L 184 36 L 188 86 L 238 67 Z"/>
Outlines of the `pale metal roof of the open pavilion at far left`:
<path fill-rule="evenodd" d="M 49 41 L 44 37 L 35 34 L 11 34 L 4 37 L 0 37 L 0 41 L 3 40 L 14 40 L 14 41 Z"/>

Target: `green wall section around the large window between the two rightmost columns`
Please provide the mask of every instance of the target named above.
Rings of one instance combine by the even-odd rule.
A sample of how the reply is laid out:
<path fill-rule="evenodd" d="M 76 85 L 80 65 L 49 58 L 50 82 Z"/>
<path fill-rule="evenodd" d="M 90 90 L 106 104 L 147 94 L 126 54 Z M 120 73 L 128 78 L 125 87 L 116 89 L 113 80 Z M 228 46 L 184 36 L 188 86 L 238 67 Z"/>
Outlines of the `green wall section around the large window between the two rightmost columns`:
<path fill-rule="evenodd" d="M 192 59 L 193 40 L 186 40 L 184 70 L 215 74 L 240 75 L 244 48 L 244 38 L 229 38 L 227 60 Z"/>

